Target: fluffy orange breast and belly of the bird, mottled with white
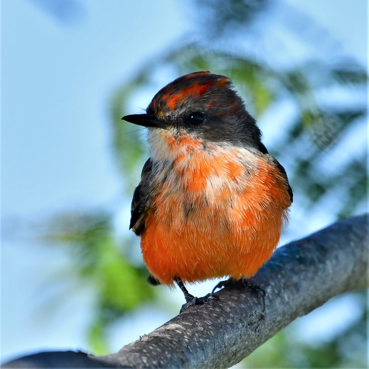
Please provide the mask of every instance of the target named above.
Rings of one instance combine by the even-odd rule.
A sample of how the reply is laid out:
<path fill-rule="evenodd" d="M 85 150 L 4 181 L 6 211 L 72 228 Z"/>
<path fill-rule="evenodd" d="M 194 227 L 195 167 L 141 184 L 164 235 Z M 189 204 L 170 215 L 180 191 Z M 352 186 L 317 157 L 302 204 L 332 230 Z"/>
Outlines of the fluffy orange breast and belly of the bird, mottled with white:
<path fill-rule="evenodd" d="M 154 177 L 141 233 L 146 266 L 162 284 L 252 276 L 272 255 L 287 219 L 283 177 L 246 150 L 193 144 L 184 152 L 180 146 Z"/>

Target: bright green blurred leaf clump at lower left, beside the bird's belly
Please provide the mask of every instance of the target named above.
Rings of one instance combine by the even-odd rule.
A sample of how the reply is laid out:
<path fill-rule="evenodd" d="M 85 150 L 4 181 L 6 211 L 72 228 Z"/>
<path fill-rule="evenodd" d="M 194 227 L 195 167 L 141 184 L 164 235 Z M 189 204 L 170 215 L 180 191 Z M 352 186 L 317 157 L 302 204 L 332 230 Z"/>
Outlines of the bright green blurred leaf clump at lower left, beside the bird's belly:
<path fill-rule="evenodd" d="M 123 314 L 153 299 L 148 272 L 127 259 L 114 237 L 111 215 L 64 214 L 49 225 L 49 242 L 68 248 L 73 277 L 94 286 L 98 301 L 88 337 L 93 352 L 108 352 L 106 328 Z"/>

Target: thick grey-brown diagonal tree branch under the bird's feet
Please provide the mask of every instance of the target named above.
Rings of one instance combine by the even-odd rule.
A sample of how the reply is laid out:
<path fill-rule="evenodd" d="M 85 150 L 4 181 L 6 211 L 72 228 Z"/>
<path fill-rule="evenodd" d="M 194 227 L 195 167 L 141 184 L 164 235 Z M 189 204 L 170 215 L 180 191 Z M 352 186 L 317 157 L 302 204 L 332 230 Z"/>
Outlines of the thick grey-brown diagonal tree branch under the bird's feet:
<path fill-rule="evenodd" d="M 331 297 L 366 288 L 366 221 L 365 215 L 342 220 L 277 249 L 251 280 L 266 292 L 263 313 L 261 296 L 255 290 L 226 287 L 217 292 L 219 306 L 190 308 L 116 354 L 86 355 L 85 366 L 228 368 L 238 363 Z M 32 365 L 46 367 L 41 358 Z M 24 362 L 30 360 L 28 356 L 5 366 L 25 367 Z M 68 367 L 66 362 L 62 366 Z"/>

